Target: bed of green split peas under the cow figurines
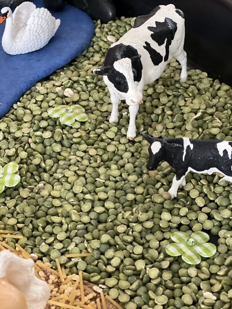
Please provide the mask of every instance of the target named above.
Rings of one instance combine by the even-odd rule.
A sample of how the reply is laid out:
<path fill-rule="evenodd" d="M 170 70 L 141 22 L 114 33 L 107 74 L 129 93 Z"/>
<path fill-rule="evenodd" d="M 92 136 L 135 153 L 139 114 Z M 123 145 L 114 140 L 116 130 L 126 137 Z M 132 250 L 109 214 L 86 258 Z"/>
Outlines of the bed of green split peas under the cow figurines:
<path fill-rule="evenodd" d="M 119 123 L 109 124 L 110 93 L 92 70 L 133 22 L 97 22 L 88 49 L 1 119 L 0 165 L 18 163 L 21 182 L 0 195 L 0 229 L 22 234 L 18 243 L 54 269 L 58 258 L 67 274 L 83 271 L 126 309 L 229 309 L 231 185 L 218 183 L 220 174 L 189 173 L 171 201 L 174 169 L 163 162 L 148 173 L 148 142 L 140 132 L 232 141 L 231 87 L 200 70 L 189 70 L 180 84 L 181 66 L 171 62 L 144 88 L 138 134 L 127 140 L 128 106 L 121 102 Z M 65 127 L 48 116 L 55 104 L 79 104 L 89 120 Z M 172 232 L 202 229 L 219 237 L 212 258 L 191 266 L 167 256 Z M 15 248 L 15 239 L 6 242 Z M 65 257 L 87 252 L 93 255 Z"/>

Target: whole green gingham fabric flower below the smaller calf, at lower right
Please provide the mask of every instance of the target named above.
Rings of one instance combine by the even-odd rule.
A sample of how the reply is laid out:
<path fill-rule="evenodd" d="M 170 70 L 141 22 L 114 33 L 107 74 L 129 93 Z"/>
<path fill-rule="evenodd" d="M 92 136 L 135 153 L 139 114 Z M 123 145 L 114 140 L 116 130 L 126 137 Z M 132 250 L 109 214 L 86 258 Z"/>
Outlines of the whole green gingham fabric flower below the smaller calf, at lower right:
<path fill-rule="evenodd" d="M 199 264 L 201 257 L 211 257 L 216 253 L 216 246 L 213 243 L 207 243 L 208 234 L 204 232 L 195 232 L 189 236 L 184 232 L 174 232 L 171 235 L 174 243 L 170 243 L 165 250 L 170 256 L 182 255 L 182 259 L 191 265 Z"/>

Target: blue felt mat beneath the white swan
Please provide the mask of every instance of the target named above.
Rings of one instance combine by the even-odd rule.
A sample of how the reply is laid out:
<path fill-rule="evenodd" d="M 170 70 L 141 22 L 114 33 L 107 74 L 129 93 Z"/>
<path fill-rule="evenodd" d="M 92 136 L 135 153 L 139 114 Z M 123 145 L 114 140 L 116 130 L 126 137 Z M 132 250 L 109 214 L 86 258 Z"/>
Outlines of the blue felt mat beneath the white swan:
<path fill-rule="evenodd" d="M 43 6 L 42 0 L 33 2 L 37 7 Z M 0 43 L 0 117 L 41 78 L 69 63 L 86 49 L 94 35 L 92 19 L 74 6 L 65 5 L 61 12 L 51 13 L 61 20 L 61 24 L 44 48 L 12 56 L 4 52 Z M 0 24 L 0 42 L 4 28 L 5 23 Z"/>

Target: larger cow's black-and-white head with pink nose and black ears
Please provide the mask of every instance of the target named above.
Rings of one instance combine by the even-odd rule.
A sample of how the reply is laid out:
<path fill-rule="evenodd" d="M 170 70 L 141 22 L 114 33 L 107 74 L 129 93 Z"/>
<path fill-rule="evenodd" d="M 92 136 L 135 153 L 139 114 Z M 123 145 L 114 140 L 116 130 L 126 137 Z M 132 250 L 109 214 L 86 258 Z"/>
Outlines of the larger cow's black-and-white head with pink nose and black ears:
<path fill-rule="evenodd" d="M 104 66 L 94 70 L 95 74 L 106 75 L 108 77 L 115 89 L 122 97 L 125 97 L 128 105 L 140 104 L 143 99 L 143 95 L 137 90 L 137 86 L 135 85 L 136 72 L 134 67 L 136 67 L 136 62 L 140 61 L 140 57 L 141 55 L 122 58 L 115 61 L 112 66 Z"/>

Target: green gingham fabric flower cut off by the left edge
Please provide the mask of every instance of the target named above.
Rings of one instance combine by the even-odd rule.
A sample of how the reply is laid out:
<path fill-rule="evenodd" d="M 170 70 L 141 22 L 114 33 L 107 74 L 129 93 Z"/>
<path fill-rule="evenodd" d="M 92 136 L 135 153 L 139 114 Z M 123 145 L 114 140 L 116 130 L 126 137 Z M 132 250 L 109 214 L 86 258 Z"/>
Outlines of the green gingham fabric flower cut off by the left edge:
<path fill-rule="evenodd" d="M 5 187 L 14 187 L 20 182 L 20 176 L 15 174 L 18 169 L 18 164 L 11 162 L 0 170 L 0 193 L 3 192 Z"/>

